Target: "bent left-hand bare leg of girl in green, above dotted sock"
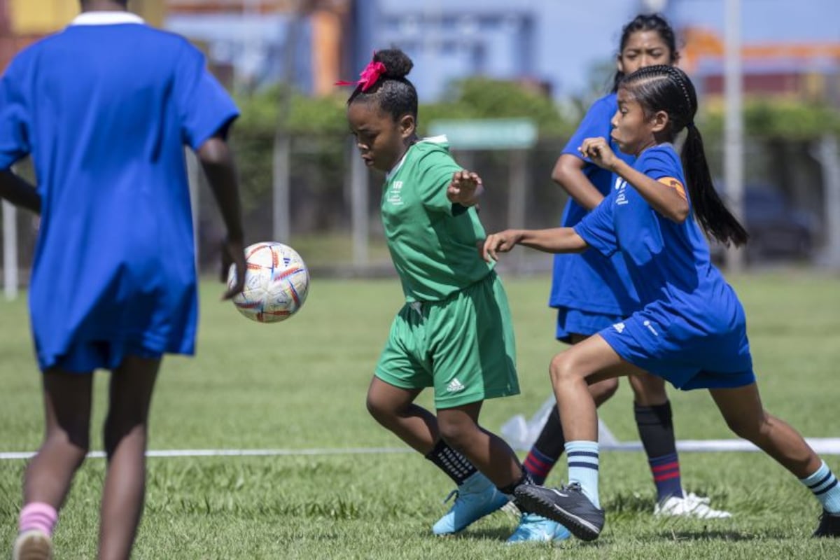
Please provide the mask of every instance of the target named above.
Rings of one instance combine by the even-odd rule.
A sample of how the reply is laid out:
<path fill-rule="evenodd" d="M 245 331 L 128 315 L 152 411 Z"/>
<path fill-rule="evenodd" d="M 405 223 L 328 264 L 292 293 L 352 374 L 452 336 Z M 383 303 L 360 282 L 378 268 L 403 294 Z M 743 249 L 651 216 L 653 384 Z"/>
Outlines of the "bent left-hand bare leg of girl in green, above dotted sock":
<path fill-rule="evenodd" d="M 422 406 L 414 404 L 420 390 L 407 390 L 374 377 L 370 381 L 367 409 L 383 427 L 396 434 L 423 455 L 438 441 L 438 420 Z"/>

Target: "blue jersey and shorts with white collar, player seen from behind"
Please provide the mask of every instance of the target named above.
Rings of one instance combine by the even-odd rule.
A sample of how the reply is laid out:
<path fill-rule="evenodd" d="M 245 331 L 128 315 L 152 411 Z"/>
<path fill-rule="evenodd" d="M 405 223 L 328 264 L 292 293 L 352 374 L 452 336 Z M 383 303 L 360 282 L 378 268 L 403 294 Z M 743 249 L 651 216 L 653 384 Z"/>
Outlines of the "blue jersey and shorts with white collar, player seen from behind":
<path fill-rule="evenodd" d="M 237 116 L 186 39 L 83 13 L 0 81 L 0 169 L 31 154 L 42 212 L 29 294 L 42 369 L 192 353 L 197 282 L 184 146 Z M 106 348 L 64 364 L 73 348 Z"/>

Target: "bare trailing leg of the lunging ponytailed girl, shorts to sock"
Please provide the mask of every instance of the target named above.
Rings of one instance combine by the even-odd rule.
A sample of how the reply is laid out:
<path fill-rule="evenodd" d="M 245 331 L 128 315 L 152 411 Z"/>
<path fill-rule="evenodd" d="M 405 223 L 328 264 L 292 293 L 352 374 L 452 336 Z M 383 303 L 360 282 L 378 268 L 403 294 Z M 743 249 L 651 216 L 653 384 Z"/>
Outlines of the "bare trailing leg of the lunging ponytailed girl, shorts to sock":
<path fill-rule="evenodd" d="M 758 385 L 710 392 L 732 432 L 760 447 L 796 478 L 804 479 L 820 468 L 820 458 L 799 432 L 764 410 Z"/>

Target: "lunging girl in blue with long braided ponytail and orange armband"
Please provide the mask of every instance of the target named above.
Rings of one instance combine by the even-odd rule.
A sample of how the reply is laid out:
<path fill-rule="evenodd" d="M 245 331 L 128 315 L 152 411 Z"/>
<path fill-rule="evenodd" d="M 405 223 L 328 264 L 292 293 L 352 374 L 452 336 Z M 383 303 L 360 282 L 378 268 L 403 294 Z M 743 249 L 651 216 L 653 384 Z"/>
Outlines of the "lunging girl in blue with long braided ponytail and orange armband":
<path fill-rule="evenodd" d="M 743 307 L 711 264 L 701 229 L 722 243 L 740 245 L 748 236 L 712 186 L 694 124 L 694 86 L 675 66 L 648 66 L 622 79 L 617 100 L 611 138 L 636 156 L 635 163 L 618 158 L 601 137 L 580 145 L 581 154 L 617 175 L 606 199 L 574 228 L 507 230 L 486 238 L 482 248 L 487 260 L 517 244 L 549 253 L 619 253 L 642 306 L 552 360 L 570 484 L 522 485 L 517 502 L 581 539 L 596 539 L 604 511 L 596 403 L 587 384 L 649 373 L 679 389 L 708 389 L 732 431 L 781 463 L 821 502 L 814 535 L 840 535 L 837 478 L 795 429 L 764 410 Z M 680 165 L 672 143 L 684 129 Z"/>

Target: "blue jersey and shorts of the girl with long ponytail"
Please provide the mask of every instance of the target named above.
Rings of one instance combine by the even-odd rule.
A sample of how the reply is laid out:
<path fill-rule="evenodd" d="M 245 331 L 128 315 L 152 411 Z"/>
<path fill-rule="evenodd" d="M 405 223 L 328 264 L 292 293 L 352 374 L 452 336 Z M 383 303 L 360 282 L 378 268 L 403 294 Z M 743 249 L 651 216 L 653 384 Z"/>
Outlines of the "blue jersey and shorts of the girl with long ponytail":
<path fill-rule="evenodd" d="M 688 198 L 672 145 L 646 149 L 633 167 Z M 754 380 L 743 307 L 693 219 L 672 222 L 618 180 L 575 231 L 602 254 L 620 253 L 638 292 L 643 308 L 600 332 L 623 359 L 681 389 Z"/>

